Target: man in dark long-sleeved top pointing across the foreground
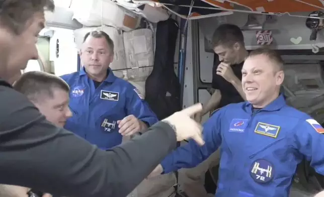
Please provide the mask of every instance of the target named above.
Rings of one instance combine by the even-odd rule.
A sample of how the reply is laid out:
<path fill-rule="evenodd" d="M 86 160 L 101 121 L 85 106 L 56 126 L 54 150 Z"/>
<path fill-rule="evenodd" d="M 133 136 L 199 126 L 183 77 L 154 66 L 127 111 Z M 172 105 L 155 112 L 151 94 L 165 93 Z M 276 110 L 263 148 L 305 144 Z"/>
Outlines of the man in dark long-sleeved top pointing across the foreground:
<path fill-rule="evenodd" d="M 44 11 L 54 8 L 52 0 L 0 1 L 1 183 L 63 196 L 125 196 L 177 141 L 194 138 L 203 143 L 200 125 L 190 118 L 201 111 L 200 104 L 108 151 L 47 121 L 11 83 L 30 59 L 38 58 Z"/>

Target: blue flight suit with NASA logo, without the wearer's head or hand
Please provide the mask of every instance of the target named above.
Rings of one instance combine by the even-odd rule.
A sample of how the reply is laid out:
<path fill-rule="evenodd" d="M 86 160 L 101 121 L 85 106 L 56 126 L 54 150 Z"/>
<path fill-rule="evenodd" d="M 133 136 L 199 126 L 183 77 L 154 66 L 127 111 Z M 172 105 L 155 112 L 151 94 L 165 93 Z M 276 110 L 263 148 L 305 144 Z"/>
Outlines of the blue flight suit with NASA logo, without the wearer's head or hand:
<path fill-rule="evenodd" d="M 104 150 L 122 142 L 118 120 L 134 115 L 148 126 L 158 121 L 136 87 L 110 69 L 108 72 L 97 88 L 84 68 L 61 76 L 70 86 L 69 107 L 73 114 L 64 128 Z"/>

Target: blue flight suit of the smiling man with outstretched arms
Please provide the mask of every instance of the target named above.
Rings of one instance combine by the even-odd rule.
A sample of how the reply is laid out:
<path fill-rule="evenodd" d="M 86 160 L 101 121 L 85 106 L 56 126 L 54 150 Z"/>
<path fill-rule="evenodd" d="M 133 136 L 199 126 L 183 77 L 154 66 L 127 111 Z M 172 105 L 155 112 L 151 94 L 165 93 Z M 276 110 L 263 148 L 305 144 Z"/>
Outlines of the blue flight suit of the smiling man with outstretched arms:
<path fill-rule="evenodd" d="M 176 149 L 161 162 L 164 173 L 195 167 L 219 147 L 217 197 L 288 197 L 303 156 L 324 174 L 324 129 L 283 95 L 259 110 L 230 104 L 203 127 L 204 146 L 191 140 Z"/>

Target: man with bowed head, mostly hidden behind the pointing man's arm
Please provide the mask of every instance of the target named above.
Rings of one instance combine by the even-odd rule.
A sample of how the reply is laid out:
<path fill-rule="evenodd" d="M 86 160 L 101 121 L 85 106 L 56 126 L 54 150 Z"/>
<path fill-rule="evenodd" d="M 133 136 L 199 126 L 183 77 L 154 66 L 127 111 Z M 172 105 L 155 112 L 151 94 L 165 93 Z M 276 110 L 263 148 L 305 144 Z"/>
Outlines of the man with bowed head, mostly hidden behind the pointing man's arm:
<path fill-rule="evenodd" d="M 68 108 L 69 86 L 64 80 L 46 72 L 26 72 L 14 83 L 14 89 L 25 94 L 45 118 L 63 127 L 72 116 Z M 0 193 L 8 197 L 27 197 L 28 187 L 0 185 Z M 51 197 L 46 193 L 43 197 Z"/>

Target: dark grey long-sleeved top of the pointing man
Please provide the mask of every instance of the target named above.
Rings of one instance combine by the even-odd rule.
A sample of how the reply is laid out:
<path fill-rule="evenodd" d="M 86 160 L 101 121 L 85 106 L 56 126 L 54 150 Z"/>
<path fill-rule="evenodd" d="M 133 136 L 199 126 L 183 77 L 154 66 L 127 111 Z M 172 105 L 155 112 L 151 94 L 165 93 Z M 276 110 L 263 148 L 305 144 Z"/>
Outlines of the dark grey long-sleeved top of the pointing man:
<path fill-rule="evenodd" d="M 109 151 L 47 122 L 27 98 L 0 86 L 0 183 L 57 195 L 126 196 L 176 147 L 159 122 Z"/>

